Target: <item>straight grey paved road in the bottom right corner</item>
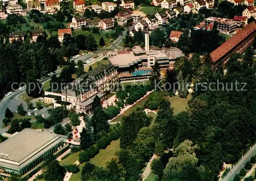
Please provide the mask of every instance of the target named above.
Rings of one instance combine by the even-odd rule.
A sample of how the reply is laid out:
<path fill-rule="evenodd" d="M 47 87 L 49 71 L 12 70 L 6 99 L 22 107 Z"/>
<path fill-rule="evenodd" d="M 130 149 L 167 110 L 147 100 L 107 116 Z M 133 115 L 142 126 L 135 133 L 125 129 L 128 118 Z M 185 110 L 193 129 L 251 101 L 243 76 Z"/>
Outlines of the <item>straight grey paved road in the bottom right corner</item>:
<path fill-rule="evenodd" d="M 239 174 L 245 163 L 250 161 L 251 157 L 256 154 L 256 144 L 254 144 L 243 158 L 232 168 L 232 170 L 222 179 L 222 181 L 232 181 L 234 175 Z"/>

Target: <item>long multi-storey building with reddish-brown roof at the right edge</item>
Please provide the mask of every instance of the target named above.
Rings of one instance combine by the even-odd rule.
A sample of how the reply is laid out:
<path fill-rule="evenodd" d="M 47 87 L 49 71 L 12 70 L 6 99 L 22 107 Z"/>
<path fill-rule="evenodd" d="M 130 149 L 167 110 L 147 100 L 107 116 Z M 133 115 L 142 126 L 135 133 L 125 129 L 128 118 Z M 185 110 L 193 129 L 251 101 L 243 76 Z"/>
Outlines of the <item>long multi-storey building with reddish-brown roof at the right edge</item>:
<path fill-rule="evenodd" d="M 236 35 L 229 38 L 222 45 L 210 53 L 212 69 L 223 66 L 234 53 L 243 54 L 254 40 L 256 23 L 247 24 Z"/>

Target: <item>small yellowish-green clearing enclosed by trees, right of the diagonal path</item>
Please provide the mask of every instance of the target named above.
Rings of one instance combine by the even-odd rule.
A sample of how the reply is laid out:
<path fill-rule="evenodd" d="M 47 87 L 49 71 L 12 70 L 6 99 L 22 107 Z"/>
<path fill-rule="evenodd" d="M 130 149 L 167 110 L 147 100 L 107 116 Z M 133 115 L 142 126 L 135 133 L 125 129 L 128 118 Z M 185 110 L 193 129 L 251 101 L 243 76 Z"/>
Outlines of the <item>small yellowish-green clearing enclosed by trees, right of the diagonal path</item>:
<path fill-rule="evenodd" d="M 169 97 L 170 106 L 174 108 L 174 114 L 185 111 L 188 108 L 187 102 L 191 97 L 191 94 L 188 94 L 187 98 L 180 98 L 178 95 Z"/>

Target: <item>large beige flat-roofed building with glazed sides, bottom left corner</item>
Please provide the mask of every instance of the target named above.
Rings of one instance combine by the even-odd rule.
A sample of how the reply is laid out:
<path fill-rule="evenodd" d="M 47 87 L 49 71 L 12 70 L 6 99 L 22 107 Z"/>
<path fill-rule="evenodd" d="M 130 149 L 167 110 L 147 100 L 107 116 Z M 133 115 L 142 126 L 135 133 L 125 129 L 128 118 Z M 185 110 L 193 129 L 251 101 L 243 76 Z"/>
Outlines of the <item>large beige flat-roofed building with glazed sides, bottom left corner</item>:
<path fill-rule="evenodd" d="M 67 136 L 26 128 L 0 144 L 0 175 L 26 177 L 52 154 L 65 149 Z"/>

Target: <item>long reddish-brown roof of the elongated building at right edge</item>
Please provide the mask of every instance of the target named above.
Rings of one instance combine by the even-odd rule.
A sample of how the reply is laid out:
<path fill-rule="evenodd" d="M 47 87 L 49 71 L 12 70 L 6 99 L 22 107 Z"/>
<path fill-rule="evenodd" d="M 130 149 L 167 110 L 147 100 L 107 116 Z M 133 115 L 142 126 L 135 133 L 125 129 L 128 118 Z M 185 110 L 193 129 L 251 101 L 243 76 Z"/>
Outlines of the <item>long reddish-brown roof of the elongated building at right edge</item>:
<path fill-rule="evenodd" d="M 256 30 L 256 23 L 251 22 L 240 30 L 236 35 L 229 38 L 222 45 L 210 53 L 211 62 L 217 62 L 221 57 L 226 55 L 233 47 L 237 46 L 247 36 L 251 35 Z"/>

